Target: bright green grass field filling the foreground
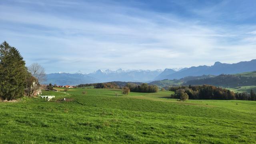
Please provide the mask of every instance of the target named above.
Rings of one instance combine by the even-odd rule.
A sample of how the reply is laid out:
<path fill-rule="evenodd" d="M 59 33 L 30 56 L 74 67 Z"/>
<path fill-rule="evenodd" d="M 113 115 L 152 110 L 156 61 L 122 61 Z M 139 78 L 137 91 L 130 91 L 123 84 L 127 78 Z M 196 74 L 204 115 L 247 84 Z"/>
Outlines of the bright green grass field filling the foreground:
<path fill-rule="evenodd" d="M 168 99 L 170 91 L 120 93 L 44 91 L 56 98 L 0 103 L 0 144 L 256 143 L 255 101 L 179 102 Z"/>

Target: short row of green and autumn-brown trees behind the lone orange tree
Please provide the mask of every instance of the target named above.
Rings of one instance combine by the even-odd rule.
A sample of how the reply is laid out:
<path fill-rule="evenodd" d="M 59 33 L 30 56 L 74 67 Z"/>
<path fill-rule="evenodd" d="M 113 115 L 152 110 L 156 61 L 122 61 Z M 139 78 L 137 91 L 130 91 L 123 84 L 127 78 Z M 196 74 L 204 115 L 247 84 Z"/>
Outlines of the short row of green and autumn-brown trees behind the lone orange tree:
<path fill-rule="evenodd" d="M 148 85 L 147 83 L 142 83 L 141 85 L 128 83 L 126 87 L 128 87 L 130 91 L 138 93 L 156 93 L 159 90 L 157 85 Z"/>

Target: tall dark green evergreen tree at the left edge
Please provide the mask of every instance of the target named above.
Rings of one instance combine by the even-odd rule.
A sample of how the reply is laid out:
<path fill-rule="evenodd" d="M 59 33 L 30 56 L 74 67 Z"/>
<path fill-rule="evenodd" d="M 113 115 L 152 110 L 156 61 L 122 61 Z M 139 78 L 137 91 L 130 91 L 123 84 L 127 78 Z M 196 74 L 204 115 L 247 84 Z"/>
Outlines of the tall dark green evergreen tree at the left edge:
<path fill-rule="evenodd" d="M 6 41 L 0 45 L 0 96 L 12 100 L 24 95 L 27 69 L 15 47 Z"/>

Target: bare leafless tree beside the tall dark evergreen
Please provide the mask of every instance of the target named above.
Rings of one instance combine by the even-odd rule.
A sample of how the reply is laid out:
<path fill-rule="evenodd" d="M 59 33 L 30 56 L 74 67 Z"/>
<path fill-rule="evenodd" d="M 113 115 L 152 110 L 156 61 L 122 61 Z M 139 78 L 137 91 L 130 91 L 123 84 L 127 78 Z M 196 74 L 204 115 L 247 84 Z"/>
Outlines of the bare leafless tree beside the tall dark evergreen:
<path fill-rule="evenodd" d="M 46 80 L 44 67 L 38 63 L 33 63 L 28 67 L 28 74 L 26 76 L 26 95 L 34 96 L 40 87 L 40 83 Z"/>

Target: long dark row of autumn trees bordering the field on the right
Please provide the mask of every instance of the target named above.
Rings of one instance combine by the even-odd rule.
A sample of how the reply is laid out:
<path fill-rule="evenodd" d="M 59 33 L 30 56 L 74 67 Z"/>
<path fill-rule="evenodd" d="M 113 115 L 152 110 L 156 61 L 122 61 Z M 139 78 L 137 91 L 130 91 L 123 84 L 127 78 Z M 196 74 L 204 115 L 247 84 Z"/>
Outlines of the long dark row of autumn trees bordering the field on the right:
<path fill-rule="evenodd" d="M 169 91 L 175 91 L 174 95 L 171 95 L 174 99 L 180 99 L 185 94 L 188 95 L 189 99 L 213 99 L 213 100 L 250 100 L 256 101 L 256 94 L 253 90 L 248 94 L 234 93 L 228 89 L 215 87 L 212 85 L 201 85 L 201 86 L 180 86 L 170 87 Z"/>

